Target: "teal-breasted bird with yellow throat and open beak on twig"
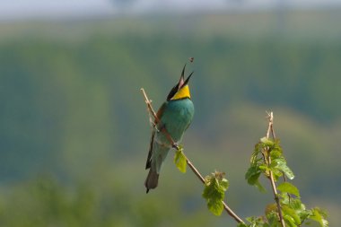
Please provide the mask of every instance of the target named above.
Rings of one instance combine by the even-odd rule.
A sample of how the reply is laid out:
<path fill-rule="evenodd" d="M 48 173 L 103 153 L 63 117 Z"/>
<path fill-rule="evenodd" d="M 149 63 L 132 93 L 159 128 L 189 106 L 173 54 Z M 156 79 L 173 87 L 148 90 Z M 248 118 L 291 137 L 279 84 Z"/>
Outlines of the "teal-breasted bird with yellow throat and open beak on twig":
<path fill-rule="evenodd" d="M 173 142 L 178 144 L 194 116 L 194 105 L 188 86 L 189 79 L 194 72 L 189 74 L 185 80 L 185 68 L 186 64 L 182 69 L 179 83 L 170 90 L 167 100 L 163 102 L 156 113 L 160 121 L 156 122 L 155 120 L 154 122 L 155 127 L 153 127 L 149 153 L 145 164 L 145 170 L 149 169 L 147 178 L 144 181 L 146 193 L 158 186 L 162 163 L 173 145 L 170 142 L 169 135 Z M 164 131 L 167 131 L 169 135 L 167 136 Z"/>

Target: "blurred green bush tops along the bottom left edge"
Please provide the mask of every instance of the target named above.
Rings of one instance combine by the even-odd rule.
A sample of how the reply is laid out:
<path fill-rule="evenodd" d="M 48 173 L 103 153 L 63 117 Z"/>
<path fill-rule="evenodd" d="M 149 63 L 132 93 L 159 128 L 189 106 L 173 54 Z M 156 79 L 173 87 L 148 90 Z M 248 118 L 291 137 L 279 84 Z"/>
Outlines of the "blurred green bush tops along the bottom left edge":
<path fill-rule="evenodd" d="M 13 187 L 12 187 L 13 188 Z M 89 183 L 63 186 L 50 176 L 31 179 L 2 192 L 2 226 L 179 226 L 208 221 L 202 211 L 188 212 L 175 203 L 153 197 L 137 198 L 109 183 L 99 190 Z M 163 204 L 162 204 L 163 203 Z M 170 218 L 177 216 L 177 219 Z M 205 215 L 204 215 L 205 216 Z M 185 221 L 183 221 L 185 220 Z M 186 221 L 187 220 L 187 221 Z"/>

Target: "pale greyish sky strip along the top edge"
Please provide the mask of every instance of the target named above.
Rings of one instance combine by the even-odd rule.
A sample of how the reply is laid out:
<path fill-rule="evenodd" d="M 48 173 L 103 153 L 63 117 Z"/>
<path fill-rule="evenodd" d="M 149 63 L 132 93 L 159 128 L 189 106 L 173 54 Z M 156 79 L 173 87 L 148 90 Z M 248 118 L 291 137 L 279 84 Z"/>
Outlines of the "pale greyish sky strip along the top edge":
<path fill-rule="evenodd" d="M 124 2 L 120 0 L 117 2 Z M 0 20 L 58 18 L 116 13 L 196 10 L 252 10 L 276 7 L 341 7 L 341 0 L 131 0 L 126 7 L 115 0 L 0 0 Z"/>

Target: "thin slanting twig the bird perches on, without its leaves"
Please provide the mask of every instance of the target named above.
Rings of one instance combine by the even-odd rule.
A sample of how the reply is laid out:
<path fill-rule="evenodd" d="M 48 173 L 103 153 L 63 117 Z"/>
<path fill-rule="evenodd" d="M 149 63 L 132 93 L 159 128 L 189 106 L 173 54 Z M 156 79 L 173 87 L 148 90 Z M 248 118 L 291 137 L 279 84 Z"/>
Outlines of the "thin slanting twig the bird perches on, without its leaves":
<path fill-rule="evenodd" d="M 144 92 L 144 89 L 141 88 L 141 92 L 143 92 L 144 94 L 144 101 L 147 105 L 147 108 L 149 110 L 149 112 L 153 115 L 153 118 L 155 119 L 155 125 L 157 125 L 159 122 L 160 122 L 160 119 L 157 117 L 155 111 L 153 110 L 153 107 L 152 107 L 152 103 L 151 103 L 151 100 L 148 99 L 146 93 Z M 173 140 L 173 138 L 171 137 L 170 133 L 167 131 L 167 129 L 165 127 L 162 127 L 162 133 L 164 135 L 167 136 L 167 139 L 168 141 L 170 142 L 171 146 L 177 150 L 179 150 L 179 145 L 176 144 Z M 188 157 L 185 155 L 185 153 L 183 153 L 185 159 L 186 159 L 186 162 L 190 168 L 190 170 L 193 171 L 193 173 L 197 176 L 198 179 L 200 179 L 200 181 L 205 184 L 205 179 L 203 177 L 203 175 L 201 175 L 201 173 L 197 170 L 197 168 L 192 164 L 192 162 L 189 161 Z M 235 214 L 232 209 L 225 204 L 225 202 L 223 202 L 223 208 L 224 210 L 227 212 L 227 214 L 229 214 L 230 216 L 232 216 L 232 218 L 237 222 L 237 223 L 244 223 L 241 218 Z"/>

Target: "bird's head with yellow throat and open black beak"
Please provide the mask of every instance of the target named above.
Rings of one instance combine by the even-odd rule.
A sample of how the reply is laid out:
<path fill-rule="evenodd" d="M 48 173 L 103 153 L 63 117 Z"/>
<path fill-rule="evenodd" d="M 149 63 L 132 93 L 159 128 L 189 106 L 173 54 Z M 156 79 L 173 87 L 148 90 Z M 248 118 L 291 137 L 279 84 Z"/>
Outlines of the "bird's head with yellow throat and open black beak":
<path fill-rule="evenodd" d="M 182 69 L 182 73 L 180 76 L 179 83 L 177 83 L 171 90 L 167 96 L 167 100 L 181 100 L 181 99 L 190 99 L 190 92 L 188 87 L 189 78 L 192 76 L 194 72 L 188 75 L 187 79 L 185 80 L 185 68 L 186 64 Z"/>

